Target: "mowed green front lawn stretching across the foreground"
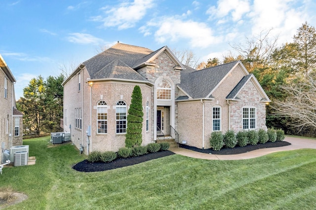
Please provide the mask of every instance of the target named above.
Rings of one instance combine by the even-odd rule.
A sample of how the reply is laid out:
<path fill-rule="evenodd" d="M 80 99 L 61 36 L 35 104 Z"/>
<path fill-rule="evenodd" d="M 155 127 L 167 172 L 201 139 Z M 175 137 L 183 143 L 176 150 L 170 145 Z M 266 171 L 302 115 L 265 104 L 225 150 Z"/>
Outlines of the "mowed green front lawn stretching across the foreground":
<path fill-rule="evenodd" d="M 171 155 L 105 172 L 82 173 L 85 159 L 49 137 L 24 140 L 36 165 L 4 168 L 0 187 L 29 199 L 7 209 L 316 209 L 316 150 L 216 161 Z"/>

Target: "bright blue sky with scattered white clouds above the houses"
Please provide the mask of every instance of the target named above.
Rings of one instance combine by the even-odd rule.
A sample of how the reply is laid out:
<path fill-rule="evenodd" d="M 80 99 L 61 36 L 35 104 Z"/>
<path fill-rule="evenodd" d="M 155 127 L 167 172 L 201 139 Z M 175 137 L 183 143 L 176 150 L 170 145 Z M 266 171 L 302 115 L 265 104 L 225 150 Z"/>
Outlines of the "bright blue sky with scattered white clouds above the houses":
<path fill-rule="evenodd" d="M 117 41 L 152 50 L 191 50 L 200 62 L 222 58 L 229 44 L 273 28 L 291 42 L 315 0 L 0 0 L 0 54 L 17 82 L 57 76 Z"/>

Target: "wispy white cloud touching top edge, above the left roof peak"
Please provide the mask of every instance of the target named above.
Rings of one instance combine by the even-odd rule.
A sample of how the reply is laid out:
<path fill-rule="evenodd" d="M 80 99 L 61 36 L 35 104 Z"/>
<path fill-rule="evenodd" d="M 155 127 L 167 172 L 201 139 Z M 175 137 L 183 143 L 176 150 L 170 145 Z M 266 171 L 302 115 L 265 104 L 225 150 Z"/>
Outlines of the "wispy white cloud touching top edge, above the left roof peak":
<path fill-rule="evenodd" d="M 105 16 L 91 17 L 92 21 L 103 22 L 105 27 L 118 27 L 119 30 L 132 28 L 140 21 L 148 9 L 152 8 L 153 0 L 134 0 L 120 3 L 117 7 L 101 8 Z"/>

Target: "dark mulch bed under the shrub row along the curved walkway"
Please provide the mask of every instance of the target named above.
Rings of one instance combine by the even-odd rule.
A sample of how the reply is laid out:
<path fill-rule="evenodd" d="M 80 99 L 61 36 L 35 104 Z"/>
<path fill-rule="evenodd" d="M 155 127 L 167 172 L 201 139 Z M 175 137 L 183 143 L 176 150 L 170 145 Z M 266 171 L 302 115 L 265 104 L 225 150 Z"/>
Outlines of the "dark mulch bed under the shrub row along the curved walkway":
<path fill-rule="evenodd" d="M 291 143 L 287 141 L 275 141 L 275 142 L 268 141 L 266 143 L 258 143 L 256 145 L 236 146 L 234 148 L 224 147 L 219 151 L 215 151 L 213 149 L 199 149 L 197 147 L 188 146 L 185 144 L 180 144 L 179 146 L 185 149 L 191 149 L 197 152 L 214 154 L 214 155 L 235 155 L 235 154 L 250 152 L 256 149 L 264 149 L 264 148 L 287 146 L 287 145 L 291 145 Z"/>

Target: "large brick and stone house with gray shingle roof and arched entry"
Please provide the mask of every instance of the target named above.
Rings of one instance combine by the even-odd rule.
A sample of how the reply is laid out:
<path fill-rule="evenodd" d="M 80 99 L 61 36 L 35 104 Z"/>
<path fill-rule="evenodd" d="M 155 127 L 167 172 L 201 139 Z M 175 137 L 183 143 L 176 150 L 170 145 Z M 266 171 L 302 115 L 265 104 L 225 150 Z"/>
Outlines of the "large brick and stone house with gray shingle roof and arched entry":
<path fill-rule="evenodd" d="M 117 43 L 63 82 L 64 131 L 84 153 L 125 146 L 135 85 L 143 96 L 143 145 L 175 130 L 180 143 L 209 148 L 213 131 L 266 129 L 270 100 L 240 61 L 194 70 L 167 46 L 152 51 Z"/>

